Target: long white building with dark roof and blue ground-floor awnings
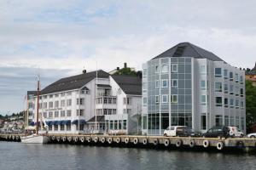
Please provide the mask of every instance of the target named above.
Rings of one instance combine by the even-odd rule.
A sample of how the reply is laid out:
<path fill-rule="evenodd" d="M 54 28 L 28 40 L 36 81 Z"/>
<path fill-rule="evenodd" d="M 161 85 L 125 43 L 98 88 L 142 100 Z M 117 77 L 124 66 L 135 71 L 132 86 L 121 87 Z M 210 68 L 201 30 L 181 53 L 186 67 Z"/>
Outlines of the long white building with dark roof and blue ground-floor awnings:
<path fill-rule="evenodd" d="M 101 70 L 62 78 L 41 91 L 39 120 L 44 116 L 49 133 L 136 133 L 141 86 L 139 77 Z"/>

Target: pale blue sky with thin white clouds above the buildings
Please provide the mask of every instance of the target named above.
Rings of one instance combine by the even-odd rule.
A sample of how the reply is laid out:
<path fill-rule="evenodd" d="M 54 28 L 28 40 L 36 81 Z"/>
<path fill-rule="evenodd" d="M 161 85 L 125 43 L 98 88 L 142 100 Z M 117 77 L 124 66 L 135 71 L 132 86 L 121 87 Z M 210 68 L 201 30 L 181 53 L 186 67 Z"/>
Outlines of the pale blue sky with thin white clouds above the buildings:
<path fill-rule="evenodd" d="M 26 91 L 83 69 L 142 64 L 179 42 L 230 65 L 256 61 L 256 1 L 1 0 L 0 114 L 25 109 Z"/>

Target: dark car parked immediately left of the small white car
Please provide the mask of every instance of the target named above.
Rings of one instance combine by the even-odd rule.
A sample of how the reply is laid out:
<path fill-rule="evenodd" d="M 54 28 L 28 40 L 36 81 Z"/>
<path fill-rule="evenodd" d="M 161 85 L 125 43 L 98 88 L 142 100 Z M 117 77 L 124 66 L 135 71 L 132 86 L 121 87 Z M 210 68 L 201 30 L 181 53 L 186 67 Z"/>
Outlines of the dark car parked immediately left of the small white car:
<path fill-rule="evenodd" d="M 218 138 L 218 137 L 228 138 L 228 137 L 230 137 L 230 128 L 226 127 L 226 126 L 212 127 L 207 131 L 207 133 L 203 133 L 203 137 L 206 137 L 206 138 Z"/>

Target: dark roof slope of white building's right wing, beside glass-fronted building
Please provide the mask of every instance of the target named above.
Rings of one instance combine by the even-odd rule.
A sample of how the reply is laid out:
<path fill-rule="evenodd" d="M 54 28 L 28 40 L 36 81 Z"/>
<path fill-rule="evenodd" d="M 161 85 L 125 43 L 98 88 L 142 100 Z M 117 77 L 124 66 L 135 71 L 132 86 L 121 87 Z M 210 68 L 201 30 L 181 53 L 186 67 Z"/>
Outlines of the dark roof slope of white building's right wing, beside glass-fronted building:
<path fill-rule="evenodd" d="M 142 95 L 142 78 L 121 75 L 112 75 L 111 77 L 125 94 Z"/>

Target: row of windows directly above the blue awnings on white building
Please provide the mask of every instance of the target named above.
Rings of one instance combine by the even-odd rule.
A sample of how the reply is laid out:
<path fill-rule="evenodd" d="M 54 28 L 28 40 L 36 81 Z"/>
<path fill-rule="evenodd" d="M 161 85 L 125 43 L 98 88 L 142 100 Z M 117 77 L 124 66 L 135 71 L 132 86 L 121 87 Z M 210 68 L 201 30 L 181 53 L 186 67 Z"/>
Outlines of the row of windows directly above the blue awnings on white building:
<path fill-rule="evenodd" d="M 80 112 L 80 115 L 79 115 Z M 44 112 L 44 118 L 53 118 L 53 117 L 71 117 L 72 116 L 72 111 L 71 110 L 67 110 L 67 111 L 49 111 L 49 112 Z M 84 110 L 81 109 L 76 110 L 76 116 L 83 116 L 84 115 Z"/>

